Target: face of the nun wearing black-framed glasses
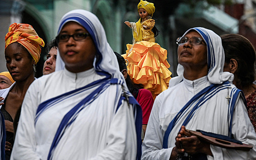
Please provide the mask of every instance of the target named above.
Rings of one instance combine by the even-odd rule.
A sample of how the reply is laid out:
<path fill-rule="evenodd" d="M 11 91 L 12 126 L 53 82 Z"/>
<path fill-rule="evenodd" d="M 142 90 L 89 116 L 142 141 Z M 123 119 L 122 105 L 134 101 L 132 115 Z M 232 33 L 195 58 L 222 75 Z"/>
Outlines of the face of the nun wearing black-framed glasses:
<path fill-rule="evenodd" d="M 76 22 L 64 25 L 59 35 L 74 35 L 75 33 L 88 33 L 87 30 Z M 83 40 L 74 40 L 70 37 L 66 42 L 59 42 L 59 53 L 67 70 L 77 73 L 93 67 L 96 47 L 91 36 Z"/>

